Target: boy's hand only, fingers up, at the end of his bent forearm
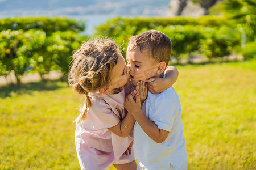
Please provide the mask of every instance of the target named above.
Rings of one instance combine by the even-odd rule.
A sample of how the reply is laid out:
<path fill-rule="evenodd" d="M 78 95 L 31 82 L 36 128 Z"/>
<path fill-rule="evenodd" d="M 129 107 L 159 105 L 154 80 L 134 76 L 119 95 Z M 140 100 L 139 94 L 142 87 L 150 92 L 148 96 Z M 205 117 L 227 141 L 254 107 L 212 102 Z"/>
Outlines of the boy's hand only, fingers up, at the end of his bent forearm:
<path fill-rule="evenodd" d="M 131 94 L 127 95 L 125 98 L 125 109 L 132 115 L 141 111 L 141 100 L 139 99 L 139 94 L 135 95 L 136 101 L 134 101 Z"/>

